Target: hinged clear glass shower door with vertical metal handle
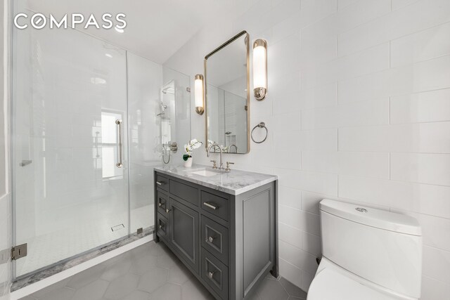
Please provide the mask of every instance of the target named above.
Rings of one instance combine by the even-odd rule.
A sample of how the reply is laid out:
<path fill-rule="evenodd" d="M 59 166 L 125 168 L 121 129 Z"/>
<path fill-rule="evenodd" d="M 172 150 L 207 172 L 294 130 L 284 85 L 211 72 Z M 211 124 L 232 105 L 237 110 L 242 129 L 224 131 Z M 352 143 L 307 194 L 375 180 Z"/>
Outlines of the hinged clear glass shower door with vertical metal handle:
<path fill-rule="evenodd" d="M 129 234 L 127 60 L 76 30 L 15 30 L 20 277 Z"/>

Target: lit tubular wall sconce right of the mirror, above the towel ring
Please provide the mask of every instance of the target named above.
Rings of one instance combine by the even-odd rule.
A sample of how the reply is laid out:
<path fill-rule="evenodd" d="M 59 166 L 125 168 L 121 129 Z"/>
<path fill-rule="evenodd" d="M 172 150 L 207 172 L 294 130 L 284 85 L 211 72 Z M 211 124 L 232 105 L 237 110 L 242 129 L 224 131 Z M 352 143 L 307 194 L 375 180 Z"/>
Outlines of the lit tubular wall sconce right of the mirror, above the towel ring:
<path fill-rule="evenodd" d="M 267 93 L 267 42 L 253 43 L 253 92 L 256 100 L 264 100 Z"/>

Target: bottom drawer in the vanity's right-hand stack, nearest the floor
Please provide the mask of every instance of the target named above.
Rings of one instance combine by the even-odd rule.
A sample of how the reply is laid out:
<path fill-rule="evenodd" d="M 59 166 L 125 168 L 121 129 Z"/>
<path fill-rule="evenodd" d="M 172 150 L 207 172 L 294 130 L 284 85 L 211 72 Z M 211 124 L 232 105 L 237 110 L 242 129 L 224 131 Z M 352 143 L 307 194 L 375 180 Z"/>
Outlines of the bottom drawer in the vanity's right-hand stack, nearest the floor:
<path fill-rule="evenodd" d="M 221 299 L 228 299 L 228 268 L 210 252 L 202 249 L 200 276 Z"/>

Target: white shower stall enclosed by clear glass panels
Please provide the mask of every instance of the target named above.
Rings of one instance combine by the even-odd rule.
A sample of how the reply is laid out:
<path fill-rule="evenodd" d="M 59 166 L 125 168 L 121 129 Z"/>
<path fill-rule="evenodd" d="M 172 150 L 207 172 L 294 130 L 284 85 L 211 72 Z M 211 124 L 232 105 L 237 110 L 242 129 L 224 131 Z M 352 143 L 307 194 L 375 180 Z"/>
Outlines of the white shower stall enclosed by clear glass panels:
<path fill-rule="evenodd" d="M 153 167 L 191 136 L 189 77 L 44 28 L 14 30 L 12 78 L 13 242 L 27 244 L 13 277 L 152 230 Z"/>

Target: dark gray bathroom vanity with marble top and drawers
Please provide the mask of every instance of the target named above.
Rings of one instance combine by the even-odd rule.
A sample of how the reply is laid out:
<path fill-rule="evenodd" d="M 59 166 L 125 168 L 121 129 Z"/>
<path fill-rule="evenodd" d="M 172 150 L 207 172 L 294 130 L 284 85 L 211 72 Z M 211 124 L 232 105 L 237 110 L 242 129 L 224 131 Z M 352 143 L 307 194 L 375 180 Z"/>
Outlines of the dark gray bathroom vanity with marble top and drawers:
<path fill-rule="evenodd" d="M 249 299 L 278 277 L 276 176 L 157 167 L 154 184 L 156 241 L 216 299 Z"/>

